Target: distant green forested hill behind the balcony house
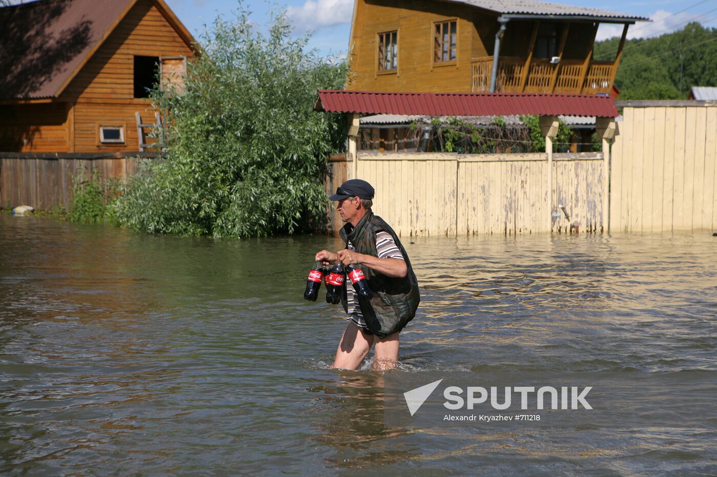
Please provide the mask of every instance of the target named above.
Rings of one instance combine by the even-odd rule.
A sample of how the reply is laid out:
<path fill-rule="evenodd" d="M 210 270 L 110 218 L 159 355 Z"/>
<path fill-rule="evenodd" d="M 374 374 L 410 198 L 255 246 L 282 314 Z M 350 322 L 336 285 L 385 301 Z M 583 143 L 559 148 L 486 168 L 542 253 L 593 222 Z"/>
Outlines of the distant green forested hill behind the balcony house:
<path fill-rule="evenodd" d="M 595 59 L 613 60 L 618 45 L 619 38 L 595 42 Z M 615 85 L 621 100 L 680 100 L 690 87 L 717 86 L 717 29 L 695 22 L 661 37 L 628 40 Z"/>

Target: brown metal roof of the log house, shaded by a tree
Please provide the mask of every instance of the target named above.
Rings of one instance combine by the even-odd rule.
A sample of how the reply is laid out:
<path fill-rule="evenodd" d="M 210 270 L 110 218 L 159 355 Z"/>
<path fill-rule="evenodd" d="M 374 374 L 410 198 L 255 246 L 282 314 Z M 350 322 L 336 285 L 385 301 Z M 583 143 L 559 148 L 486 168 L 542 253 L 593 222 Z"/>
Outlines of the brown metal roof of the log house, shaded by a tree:
<path fill-rule="evenodd" d="M 0 99 L 54 98 L 137 0 L 39 0 L 0 8 Z M 153 0 L 193 42 L 163 0 Z"/>

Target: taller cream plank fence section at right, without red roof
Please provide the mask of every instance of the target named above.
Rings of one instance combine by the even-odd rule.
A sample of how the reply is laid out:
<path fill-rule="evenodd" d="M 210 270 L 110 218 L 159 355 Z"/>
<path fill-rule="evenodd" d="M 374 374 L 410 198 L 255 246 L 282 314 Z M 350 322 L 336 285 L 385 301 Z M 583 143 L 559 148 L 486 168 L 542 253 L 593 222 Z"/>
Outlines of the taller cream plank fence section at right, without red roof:
<path fill-rule="evenodd" d="M 630 102 L 612 145 L 611 232 L 717 228 L 717 105 Z"/>

